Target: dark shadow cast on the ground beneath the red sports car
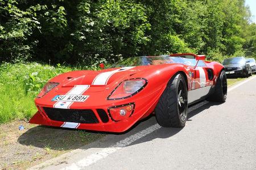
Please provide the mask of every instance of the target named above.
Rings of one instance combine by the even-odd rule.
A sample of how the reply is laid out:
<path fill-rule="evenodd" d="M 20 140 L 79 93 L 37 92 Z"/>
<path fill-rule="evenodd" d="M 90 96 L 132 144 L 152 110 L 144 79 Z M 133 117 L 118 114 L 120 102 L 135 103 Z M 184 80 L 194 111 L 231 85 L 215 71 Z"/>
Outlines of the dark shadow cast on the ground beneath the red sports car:
<path fill-rule="evenodd" d="M 192 105 L 189 107 L 188 121 L 192 121 L 191 118 L 193 116 L 199 114 L 205 109 L 219 104 L 220 103 L 202 101 Z M 104 137 L 106 134 L 113 135 L 113 138 L 117 138 L 117 140 L 123 139 L 155 124 L 157 124 L 155 116 L 150 116 L 142 121 L 139 121 L 129 131 L 121 134 L 36 126 L 22 134 L 18 138 L 18 142 L 22 145 L 39 148 L 49 147 L 52 150 L 73 150 L 92 141 L 96 141 L 97 139 Z M 147 138 L 141 138 L 138 141 L 131 143 L 131 145 L 151 141 L 155 138 L 170 138 L 176 133 L 179 133 L 179 131 L 182 129 L 183 128 L 160 128 L 154 131 L 154 135 L 148 134 Z M 108 146 L 102 145 L 102 147 Z"/>

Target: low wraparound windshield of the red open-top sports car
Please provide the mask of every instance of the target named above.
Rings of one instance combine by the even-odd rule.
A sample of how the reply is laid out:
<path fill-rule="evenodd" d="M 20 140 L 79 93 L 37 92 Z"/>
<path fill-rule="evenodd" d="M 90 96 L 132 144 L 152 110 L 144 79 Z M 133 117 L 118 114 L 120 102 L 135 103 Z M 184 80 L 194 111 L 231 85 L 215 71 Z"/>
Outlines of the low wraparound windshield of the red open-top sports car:
<path fill-rule="evenodd" d="M 146 66 L 146 65 L 161 65 L 165 63 L 181 63 L 188 66 L 195 66 L 196 59 L 193 56 L 143 56 L 143 57 L 130 57 L 124 58 L 121 61 L 114 63 L 110 68 L 114 67 L 127 67 L 127 66 Z M 198 66 L 205 66 L 203 61 L 199 61 Z"/>

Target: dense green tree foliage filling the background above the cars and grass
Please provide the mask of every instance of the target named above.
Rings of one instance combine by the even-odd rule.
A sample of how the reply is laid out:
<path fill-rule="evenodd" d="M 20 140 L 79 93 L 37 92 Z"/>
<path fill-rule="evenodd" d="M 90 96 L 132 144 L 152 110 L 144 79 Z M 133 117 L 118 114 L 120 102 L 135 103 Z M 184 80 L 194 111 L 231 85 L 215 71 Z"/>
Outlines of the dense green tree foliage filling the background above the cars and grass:
<path fill-rule="evenodd" d="M 0 62 L 95 65 L 179 52 L 255 57 L 255 27 L 244 0 L 0 0 Z"/>

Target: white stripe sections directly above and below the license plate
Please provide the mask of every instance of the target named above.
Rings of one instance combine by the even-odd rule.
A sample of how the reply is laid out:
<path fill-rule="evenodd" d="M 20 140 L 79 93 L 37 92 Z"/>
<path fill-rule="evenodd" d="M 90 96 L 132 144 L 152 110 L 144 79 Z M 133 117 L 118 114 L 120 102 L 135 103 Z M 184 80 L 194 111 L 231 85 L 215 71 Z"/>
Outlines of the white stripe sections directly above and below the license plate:
<path fill-rule="evenodd" d="M 76 85 L 66 95 L 82 95 L 89 87 L 89 85 Z M 57 101 L 53 108 L 69 109 L 72 104 L 73 101 Z"/>

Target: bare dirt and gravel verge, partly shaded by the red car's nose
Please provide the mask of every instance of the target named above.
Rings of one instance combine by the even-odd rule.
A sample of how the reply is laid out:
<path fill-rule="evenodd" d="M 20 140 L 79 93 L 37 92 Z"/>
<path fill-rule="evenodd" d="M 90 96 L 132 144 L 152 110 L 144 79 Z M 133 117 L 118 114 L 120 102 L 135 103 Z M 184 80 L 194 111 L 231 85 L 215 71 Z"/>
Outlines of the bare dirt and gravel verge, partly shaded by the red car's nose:
<path fill-rule="evenodd" d="M 19 130 L 19 125 L 24 130 Z M 106 134 L 14 121 L 0 125 L 0 169 L 26 169 Z"/>

